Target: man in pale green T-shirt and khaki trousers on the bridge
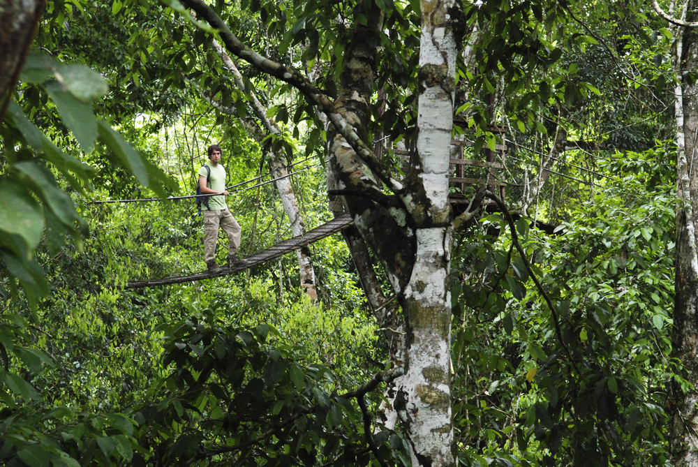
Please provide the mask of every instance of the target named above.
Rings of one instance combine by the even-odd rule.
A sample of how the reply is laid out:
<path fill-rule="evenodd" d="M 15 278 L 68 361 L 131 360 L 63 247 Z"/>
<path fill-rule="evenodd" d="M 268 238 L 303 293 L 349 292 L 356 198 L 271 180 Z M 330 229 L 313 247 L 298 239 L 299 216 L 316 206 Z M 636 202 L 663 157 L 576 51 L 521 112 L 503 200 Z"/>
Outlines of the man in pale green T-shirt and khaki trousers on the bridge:
<path fill-rule="evenodd" d="M 204 255 L 206 267 L 211 273 L 221 272 L 223 269 L 216 265 L 216 242 L 218 241 L 218 226 L 228 235 L 228 267 L 242 266 L 247 260 L 237 257 L 237 249 L 240 247 L 242 229 L 235 217 L 228 211 L 225 204 L 225 196 L 230 195 L 225 190 L 225 169 L 221 162 L 221 147 L 211 144 L 208 149 L 209 163 L 199 170 L 199 188 L 202 194 L 217 194 L 221 196 L 209 196 L 208 206 L 202 207 L 204 213 Z M 210 170 L 207 170 L 207 166 Z"/>

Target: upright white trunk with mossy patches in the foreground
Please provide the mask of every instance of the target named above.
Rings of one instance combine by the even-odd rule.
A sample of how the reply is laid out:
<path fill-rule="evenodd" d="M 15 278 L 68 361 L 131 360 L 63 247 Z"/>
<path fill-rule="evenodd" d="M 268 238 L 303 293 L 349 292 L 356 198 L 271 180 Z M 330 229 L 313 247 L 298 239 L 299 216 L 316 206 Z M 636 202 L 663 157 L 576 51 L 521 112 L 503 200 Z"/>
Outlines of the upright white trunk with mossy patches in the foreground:
<path fill-rule="evenodd" d="M 450 15 L 461 4 L 422 0 L 421 6 L 417 165 L 408 186 L 421 185 L 426 200 L 405 200 L 417 223 L 417 252 L 403 302 L 406 373 L 399 379 L 395 406 L 408 427 L 413 466 L 451 466 L 448 179 L 457 50 Z"/>

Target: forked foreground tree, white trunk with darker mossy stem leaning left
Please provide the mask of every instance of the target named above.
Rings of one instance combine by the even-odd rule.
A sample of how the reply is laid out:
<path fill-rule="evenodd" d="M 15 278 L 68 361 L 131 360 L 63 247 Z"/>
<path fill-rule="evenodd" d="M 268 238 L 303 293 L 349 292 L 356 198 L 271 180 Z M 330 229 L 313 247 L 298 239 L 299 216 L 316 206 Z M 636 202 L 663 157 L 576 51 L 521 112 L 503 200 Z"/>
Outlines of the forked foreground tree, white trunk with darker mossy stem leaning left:
<path fill-rule="evenodd" d="M 450 408 L 450 206 L 448 175 L 456 67 L 459 2 L 422 0 L 419 58 L 417 153 L 403 182 L 389 184 L 336 131 L 328 132 L 329 156 L 337 186 L 355 225 L 387 272 L 406 323 L 406 348 L 400 353 L 406 374 L 395 381 L 394 408 L 409 440 L 414 466 L 451 466 L 453 429 Z M 339 112 L 359 135 L 366 134 L 380 13 L 355 30 L 346 54 Z M 380 183 L 397 198 L 380 202 Z M 362 193 L 362 195 L 358 195 Z"/>

